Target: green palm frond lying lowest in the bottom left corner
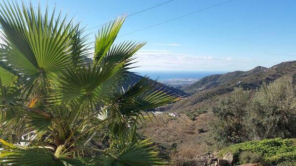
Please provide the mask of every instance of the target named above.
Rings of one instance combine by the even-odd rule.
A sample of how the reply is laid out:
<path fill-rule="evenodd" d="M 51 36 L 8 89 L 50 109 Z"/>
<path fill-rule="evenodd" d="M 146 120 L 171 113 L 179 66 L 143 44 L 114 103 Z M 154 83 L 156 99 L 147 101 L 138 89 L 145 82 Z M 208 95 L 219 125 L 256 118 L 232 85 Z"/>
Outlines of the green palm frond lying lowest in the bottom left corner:
<path fill-rule="evenodd" d="M 2 139 L 4 145 L 0 150 L 0 164 L 13 166 L 84 166 L 78 159 L 57 158 L 46 148 L 24 149 Z"/>

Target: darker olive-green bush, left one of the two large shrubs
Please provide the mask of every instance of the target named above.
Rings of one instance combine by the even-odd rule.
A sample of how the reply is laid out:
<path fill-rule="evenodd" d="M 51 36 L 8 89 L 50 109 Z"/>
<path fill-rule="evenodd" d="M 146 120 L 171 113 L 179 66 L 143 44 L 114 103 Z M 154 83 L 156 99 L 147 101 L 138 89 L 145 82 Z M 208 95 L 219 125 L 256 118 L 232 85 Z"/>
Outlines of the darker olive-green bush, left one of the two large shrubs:
<path fill-rule="evenodd" d="M 246 138 L 249 105 L 249 91 L 243 88 L 235 88 L 228 95 L 218 98 L 218 105 L 212 108 L 216 117 L 212 121 L 211 130 L 218 142 L 240 143 Z"/>

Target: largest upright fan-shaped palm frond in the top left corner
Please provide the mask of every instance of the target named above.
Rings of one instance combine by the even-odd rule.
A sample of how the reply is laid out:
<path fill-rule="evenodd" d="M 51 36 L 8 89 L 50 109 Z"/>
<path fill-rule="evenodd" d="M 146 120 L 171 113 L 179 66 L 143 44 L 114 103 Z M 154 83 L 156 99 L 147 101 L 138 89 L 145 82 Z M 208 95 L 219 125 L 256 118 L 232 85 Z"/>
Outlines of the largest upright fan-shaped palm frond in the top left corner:
<path fill-rule="evenodd" d="M 43 16 L 40 6 L 35 11 L 32 3 L 29 8 L 24 3 L 19 6 L 14 2 L 3 2 L 0 6 L 3 46 L 8 61 L 23 80 L 33 80 L 26 83 L 35 83 L 39 77 L 45 81 L 55 78 L 65 66 L 73 65 L 73 57 L 74 60 L 82 58 L 78 50 L 84 45 L 73 43 L 82 31 L 77 30 L 78 25 L 72 26 L 72 20 L 67 23 L 66 18 L 62 19 L 61 13 L 54 19 L 54 12 L 50 16 L 46 9 Z"/>

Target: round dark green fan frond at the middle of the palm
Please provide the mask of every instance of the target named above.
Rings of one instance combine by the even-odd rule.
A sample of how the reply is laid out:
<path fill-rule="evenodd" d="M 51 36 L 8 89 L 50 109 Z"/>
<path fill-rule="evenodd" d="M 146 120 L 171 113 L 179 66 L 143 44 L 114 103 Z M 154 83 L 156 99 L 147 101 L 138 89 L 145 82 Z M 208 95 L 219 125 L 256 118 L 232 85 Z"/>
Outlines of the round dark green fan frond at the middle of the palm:
<path fill-rule="evenodd" d="M 59 79 L 62 85 L 59 97 L 63 101 L 70 101 L 76 107 L 80 105 L 79 108 L 87 111 L 101 106 L 102 103 L 108 103 L 114 88 L 122 81 L 122 76 L 120 71 L 110 66 L 100 68 L 97 65 L 89 65 L 69 68 Z"/>

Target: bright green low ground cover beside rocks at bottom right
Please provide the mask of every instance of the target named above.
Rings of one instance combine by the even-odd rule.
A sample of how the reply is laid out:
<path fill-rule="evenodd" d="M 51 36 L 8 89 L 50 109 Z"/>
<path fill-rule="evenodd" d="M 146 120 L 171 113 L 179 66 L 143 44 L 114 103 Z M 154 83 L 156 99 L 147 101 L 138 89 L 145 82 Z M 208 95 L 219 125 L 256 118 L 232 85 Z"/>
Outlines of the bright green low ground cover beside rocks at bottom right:
<path fill-rule="evenodd" d="M 296 139 L 264 139 L 262 141 L 249 141 L 235 144 L 222 149 L 218 156 L 222 157 L 227 152 L 232 152 L 236 163 L 247 164 L 260 162 L 263 165 L 288 165 L 295 166 L 296 163 Z"/>

